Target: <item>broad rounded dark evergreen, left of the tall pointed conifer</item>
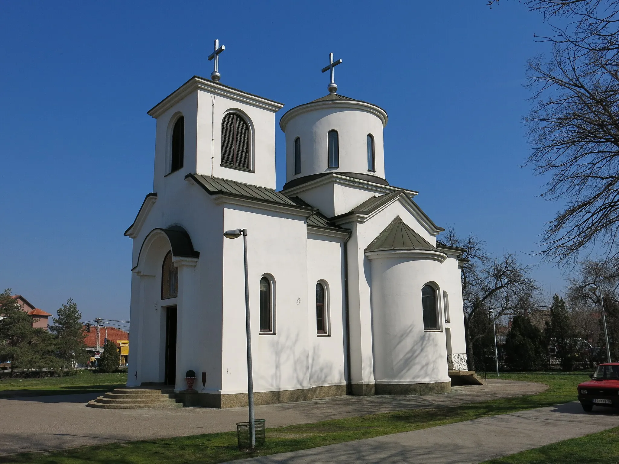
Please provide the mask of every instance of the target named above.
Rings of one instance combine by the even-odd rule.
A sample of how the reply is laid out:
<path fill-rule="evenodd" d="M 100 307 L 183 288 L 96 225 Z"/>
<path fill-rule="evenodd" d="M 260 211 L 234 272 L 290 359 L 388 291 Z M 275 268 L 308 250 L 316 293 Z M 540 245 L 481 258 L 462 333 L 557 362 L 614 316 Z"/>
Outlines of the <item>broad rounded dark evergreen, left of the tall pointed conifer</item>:
<path fill-rule="evenodd" d="M 543 363 L 543 334 L 528 317 L 514 316 L 505 339 L 505 363 L 514 371 L 536 371 Z"/>

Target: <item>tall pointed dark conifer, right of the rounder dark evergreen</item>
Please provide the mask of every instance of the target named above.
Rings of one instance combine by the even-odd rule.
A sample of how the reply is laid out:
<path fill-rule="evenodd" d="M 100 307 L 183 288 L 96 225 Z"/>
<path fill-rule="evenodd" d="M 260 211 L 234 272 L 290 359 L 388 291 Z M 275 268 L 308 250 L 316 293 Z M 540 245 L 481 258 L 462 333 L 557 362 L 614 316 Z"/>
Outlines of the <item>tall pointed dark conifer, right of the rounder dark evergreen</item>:
<path fill-rule="evenodd" d="M 574 361 L 578 358 L 576 350 L 576 333 L 565 309 L 565 301 L 555 293 L 550 306 L 550 320 L 546 321 L 544 330 L 547 346 L 553 345 L 556 357 L 559 358 L 561 369 L 571 371 Z"/>

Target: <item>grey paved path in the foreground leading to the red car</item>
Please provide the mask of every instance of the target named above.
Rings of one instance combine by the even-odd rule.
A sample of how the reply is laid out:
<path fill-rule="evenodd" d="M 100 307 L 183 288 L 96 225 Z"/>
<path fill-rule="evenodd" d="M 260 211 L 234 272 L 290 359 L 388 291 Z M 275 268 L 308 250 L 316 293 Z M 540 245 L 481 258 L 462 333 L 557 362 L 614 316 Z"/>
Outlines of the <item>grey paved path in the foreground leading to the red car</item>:
<path fill-rule="evenodd" d="M 478 463 L 619 426 L 619 415 L 578 402 L 431 429 L 234 461 L 239 464 Z"/>

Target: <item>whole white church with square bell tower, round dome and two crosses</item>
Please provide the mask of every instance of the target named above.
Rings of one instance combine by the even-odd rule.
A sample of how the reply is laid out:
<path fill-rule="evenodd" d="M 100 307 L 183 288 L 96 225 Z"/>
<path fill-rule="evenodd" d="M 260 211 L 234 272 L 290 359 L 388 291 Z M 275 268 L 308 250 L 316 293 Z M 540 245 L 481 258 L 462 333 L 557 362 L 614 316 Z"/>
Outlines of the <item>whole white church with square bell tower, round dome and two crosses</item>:
<path fill-rule="evenodd" d="M 247 404 L 246 229 L 256 404 L 451 389 L 465 353 L 461 256 L 385 179 L 378 105 L 329 93 L 288 110 L 286 183 L 275 189 L 284 106 L 192 77 L 157 119 L 152 193 L 133 239 L 128 386 L 187 388 L 192 404 Z M 387 160 L 389 156 L 387 154 Z M 204 384 L 202 379 L 204 376 Z"/>

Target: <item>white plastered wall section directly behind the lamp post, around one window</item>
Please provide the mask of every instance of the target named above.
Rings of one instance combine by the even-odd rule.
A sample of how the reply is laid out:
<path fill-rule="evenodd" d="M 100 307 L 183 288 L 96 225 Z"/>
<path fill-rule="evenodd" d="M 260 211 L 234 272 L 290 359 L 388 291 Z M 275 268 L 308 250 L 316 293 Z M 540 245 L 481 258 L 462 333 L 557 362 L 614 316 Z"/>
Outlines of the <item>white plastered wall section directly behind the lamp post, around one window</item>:
<path fill-rule="evenodd" d="M 254 391 L 309 386 L 305 217 L 226 204 L 224 228 L 248 230 L 249 305 Z M 222 394 L 247 392 L 243 241 L 223 242 Z M 259 282 L 275 286 L 274 334 L 259 331 Z M 297 304 L 299 301 L 299 304 Z"/>

